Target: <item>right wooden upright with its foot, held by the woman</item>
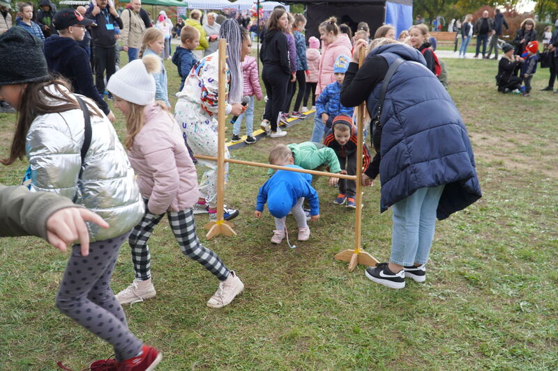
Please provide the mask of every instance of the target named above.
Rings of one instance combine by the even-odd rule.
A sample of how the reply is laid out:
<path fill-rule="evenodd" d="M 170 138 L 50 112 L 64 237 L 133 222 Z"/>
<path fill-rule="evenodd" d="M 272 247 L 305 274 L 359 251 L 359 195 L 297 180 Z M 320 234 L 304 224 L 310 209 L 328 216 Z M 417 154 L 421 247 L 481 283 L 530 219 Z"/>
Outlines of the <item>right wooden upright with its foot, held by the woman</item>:
<path fill-rule="evenodd" d="M 364 62 L 366 49 L 361 50 L 359 55 L 359 67 Z M 349 271 L 353 271 L 357 264 L 376 265 L 376 260 L 372 255 L 363 251 L 361 248 L 362 238 L 362 159 L 363 159 L 363 132 L 364 132 L 364 109 L 365 103 L 362 102 L 356 109 L 356 123 L 359 125 L 356 133 L 356 213 L 354 216 L 354 249 L 345 250 L 335 255 L 335 259 L 349 262 Z M 372 135 L 372 134 L 370 134 Z"/>

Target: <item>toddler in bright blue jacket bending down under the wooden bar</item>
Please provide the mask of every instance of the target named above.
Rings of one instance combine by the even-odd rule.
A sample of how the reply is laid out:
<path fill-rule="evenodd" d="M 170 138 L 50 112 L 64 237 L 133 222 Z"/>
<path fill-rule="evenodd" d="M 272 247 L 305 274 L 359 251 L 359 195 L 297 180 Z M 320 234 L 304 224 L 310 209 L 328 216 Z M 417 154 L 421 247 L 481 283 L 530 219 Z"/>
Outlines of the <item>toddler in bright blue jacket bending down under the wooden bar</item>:
<path fill-rule="evenodd" d="M 301 168 L 294 165 L 292 151 L 286 145 L 276 145 L 271 150 L 269 163 L 289 168 Z M 289 212 L 292 212 L 296 224 L 299 226 L 299 241 L 306 241 L 310 238 L 310 228 L 308 228 L 306 214 L 302 207 L 304 198 L 308 198 L 310 202 L 310 219 L 312 221 L 319 219 L 318 194 L 310 182 L 312 182 L 310 174 L 279 170 L 260 187 L 254 215 L 256 218 L 260 218 L 264 211 L 264 204 L 267 202 L 269 214 L 275 216 L 276 229 L 273 230 L 273 237 L 271 237 L 273 244 L 280 244 L 285 238 L 287 234 L 285 219 Z M 287 242 L 289 242 L 288 237 Z"/>

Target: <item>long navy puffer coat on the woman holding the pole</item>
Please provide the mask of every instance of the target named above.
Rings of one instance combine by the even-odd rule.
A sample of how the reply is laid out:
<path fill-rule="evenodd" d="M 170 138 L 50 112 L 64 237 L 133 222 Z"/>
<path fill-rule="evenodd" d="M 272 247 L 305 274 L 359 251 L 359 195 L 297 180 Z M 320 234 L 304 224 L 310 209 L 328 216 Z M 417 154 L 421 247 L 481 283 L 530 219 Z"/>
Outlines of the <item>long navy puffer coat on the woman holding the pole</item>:
<path fill-rule="evenodd" d="M 391 77 L 382 110 L 381 211 L 419 188 L 446 184 L 437 210 L 437 218 L 445 219 L 482 196 L 467 129 L 444 86 L 425 67 L 421 52 L 390 44 L 373 49 L 368 57 L 377 54 L 389 65 L 396 58 L 405 60 Z M 381 87 L 377 84 L 368 97 L 371 117 Z"/>

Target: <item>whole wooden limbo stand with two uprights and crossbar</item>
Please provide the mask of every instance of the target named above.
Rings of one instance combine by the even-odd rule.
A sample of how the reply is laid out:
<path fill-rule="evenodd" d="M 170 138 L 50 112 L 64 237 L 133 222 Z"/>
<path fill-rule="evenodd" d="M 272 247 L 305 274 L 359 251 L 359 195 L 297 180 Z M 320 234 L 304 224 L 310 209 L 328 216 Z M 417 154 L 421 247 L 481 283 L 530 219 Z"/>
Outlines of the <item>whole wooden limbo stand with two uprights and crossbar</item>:
<path fill-rule="evenodd" d="M 225 39 L 219 39 L 219 81 L 218 81 L 218 96 L 225 97 L 225 61 L 226 61 L 226 41 Z M 359 65 L 362 65 L 365 53 L 361 53 Z M 361 104 L 357 109 L 357 118 L 359 123 L 363 123 L 364 120 L 364 103 Z M 229 221 L 223 220 L 223 210 L 224 210 L 224 198 L 225 198 L 225 162 L 231 164 L 241 164 L 248 166 L 259 166 L 262 168 L 274 168 L 277 170 L 287 170 L 296 171 L 299 173 L 308 173 L 312 175 L 320 175 L 326 177 L 339 177 L 347 180 L 354 180 L 356 182 L 356 214 L 354 222 L 354 248 L 341 251 L 335 254 L 336 260 L 342 260 L 349 262 L 349 271 L 353 271 L 357 264 L 362 265 L 376 265 L 378 260 L 376 260 L 372 255 L 365 252 L 361 247 L 361 232 L 362 232 L 362 165 L 363 157 L 356 157 L 356 175 L 345 175 L 339 173 L 326 173 L 324 171 L 313 171 L 298 168 L 287 168 L 286 166 L 277 166 L 271 164 L 261 164 L 259 162 L 243 161 L 237 159 L 225 159 L 225 100 L 219 99 L 218 101 L 218 150 L 217 157 L 195 155 L 199 159 L 208 159 L 212 161 L 217 161 L 217 220 L 211 221 L 204 225 L 207 232 L 206 238 L 211 239 L 217 235 L 232 236 L 236 235 L 236 232 L 232 229 L 234 225 Z M 357 134 L 357 147 L 356 152 L 362 154 L 363 150 L 363 125 L 359 125 Z"/>

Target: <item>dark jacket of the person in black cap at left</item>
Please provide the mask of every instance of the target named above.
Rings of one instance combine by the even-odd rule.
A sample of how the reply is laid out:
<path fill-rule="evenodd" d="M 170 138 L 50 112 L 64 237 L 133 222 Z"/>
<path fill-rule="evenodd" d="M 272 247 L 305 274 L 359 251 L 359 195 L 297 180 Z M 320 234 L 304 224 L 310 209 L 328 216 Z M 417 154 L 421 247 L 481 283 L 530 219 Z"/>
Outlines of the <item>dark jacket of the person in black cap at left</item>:
<path fill-rule="evenodd" d="M 105 114 L 110 112 L 93 84 L 89 55 L 77 41 L 59 35 L 50 36 L 45 40 L 45 58 L 49 71 L 70 80 L 75 93 L 94 100 Z"/>

